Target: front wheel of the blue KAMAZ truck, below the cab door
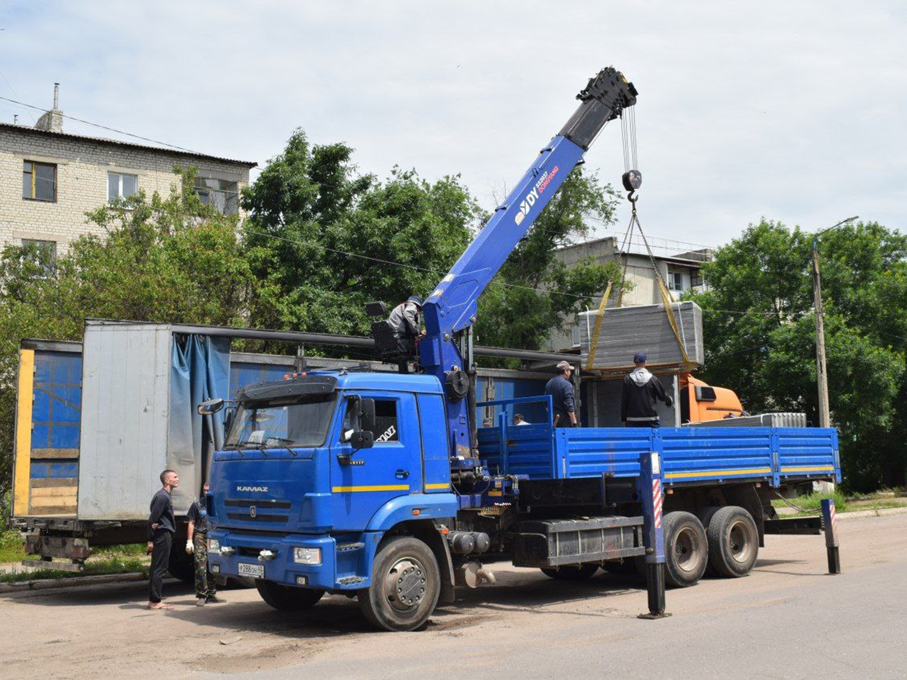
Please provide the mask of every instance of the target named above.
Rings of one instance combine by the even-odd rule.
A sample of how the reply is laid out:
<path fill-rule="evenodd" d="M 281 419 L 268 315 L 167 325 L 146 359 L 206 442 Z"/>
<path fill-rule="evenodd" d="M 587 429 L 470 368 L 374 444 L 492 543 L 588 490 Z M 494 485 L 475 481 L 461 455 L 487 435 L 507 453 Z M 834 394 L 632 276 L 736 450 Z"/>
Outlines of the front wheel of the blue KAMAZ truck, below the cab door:
<path fill-rule="evenodd" d="M 389 539 L 375 555 L 372 586 L 359 591 L 359 608 L 375 627 L 391 631 L 424 626 L 441 595 L 434 552 L 411 536 Z"/>

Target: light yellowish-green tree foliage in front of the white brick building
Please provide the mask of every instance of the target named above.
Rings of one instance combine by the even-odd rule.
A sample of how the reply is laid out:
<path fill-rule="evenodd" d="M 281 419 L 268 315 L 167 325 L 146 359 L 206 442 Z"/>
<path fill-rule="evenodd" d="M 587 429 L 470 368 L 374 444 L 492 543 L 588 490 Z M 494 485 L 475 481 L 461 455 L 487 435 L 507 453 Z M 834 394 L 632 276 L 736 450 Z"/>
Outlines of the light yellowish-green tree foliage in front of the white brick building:
<path fill-rule="evenodd" d="M 51 261 L 7 247 L 0 258 L 0 498 L 11 480 L 15 376 L 24 337 L 81 340 L 86 317 L 242 325 L 257 286 L 237 217 L 203 205 L 193 170 L 169 196 L 140 192 L 94 210 L 106 238 L 83 236 Z"/>

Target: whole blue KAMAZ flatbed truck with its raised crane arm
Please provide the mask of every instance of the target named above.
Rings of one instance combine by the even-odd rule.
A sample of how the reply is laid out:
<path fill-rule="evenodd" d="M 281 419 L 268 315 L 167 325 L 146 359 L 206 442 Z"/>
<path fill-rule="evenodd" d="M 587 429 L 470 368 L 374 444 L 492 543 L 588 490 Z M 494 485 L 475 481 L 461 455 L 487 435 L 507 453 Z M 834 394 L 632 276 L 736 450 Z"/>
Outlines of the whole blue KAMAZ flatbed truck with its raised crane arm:
<path fill-rule="evenodd" d="M 489 556 L 554 579 L 639 568 L 658 617 L 666 580 L 691 586 L 709 565 L 745 576 L 766 533 L 819 531 L 817 521 L 777 520 L 770 500 L 804 482 L 840 481 L 833 429 L 571 429 L 554 426 L 548 397 L 476 403 L 478 297 L 636 97 L 612 68 L 590 79 L 579 108 L 425 301 L 419 374 L 351 367 L 239 391 L 210 469 L 213 572 L 255 578 L 281 610 L 343 593 L 376 627 L 412 630 L 453 602 L 455 586 L 493 581 Z M 624 184 L 639 188 L 639 173 Z M 373 335 L 379 354 L 401 360 L 383 322 Z M 547 416 L 512 426 L 509 411 L 532 402 Z M 497 423 L 476 427 L 482 406 L 500 412 Z"/>

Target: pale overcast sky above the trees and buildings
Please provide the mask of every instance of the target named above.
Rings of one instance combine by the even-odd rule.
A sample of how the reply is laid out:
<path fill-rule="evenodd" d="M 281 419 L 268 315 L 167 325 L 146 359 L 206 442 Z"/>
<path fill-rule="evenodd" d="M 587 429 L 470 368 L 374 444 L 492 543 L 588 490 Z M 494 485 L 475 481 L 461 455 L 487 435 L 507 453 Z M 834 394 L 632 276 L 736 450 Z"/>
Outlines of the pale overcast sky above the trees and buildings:
<path fill-rule="evenodd" d="M 898 0 L 0 2 L 0 95 L 49 108 L 59 82 L 64 113 L 259 165 L 302 127 L 382 177 L 459 172 L 493 208 L 614 65 L 639 89 L 643 226 L 712 246 L 761 216 L 907 228 L 905 19 Z M 586 158 L 619 185 L 619 128 Z"/>

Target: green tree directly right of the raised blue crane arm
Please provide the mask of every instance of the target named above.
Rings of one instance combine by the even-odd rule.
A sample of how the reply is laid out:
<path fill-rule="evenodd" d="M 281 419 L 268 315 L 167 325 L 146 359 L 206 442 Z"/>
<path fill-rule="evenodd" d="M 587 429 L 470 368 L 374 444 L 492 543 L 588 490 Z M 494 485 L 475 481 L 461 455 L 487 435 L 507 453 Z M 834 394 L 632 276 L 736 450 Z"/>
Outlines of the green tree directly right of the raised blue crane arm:
<path fill-rule="evenodd" d="M 617 289 L 617 264 L 590 258 L 568 269 L 554 251 L 588 237 L 590 219 L 613 222 L 618 200 L 594 172 L 581 166 L 573 170 L 479 300 L 476 339 L 483 345 L 539 349 L 553 330 L 597 305 L 595 298 L 609 279 Z"/>

